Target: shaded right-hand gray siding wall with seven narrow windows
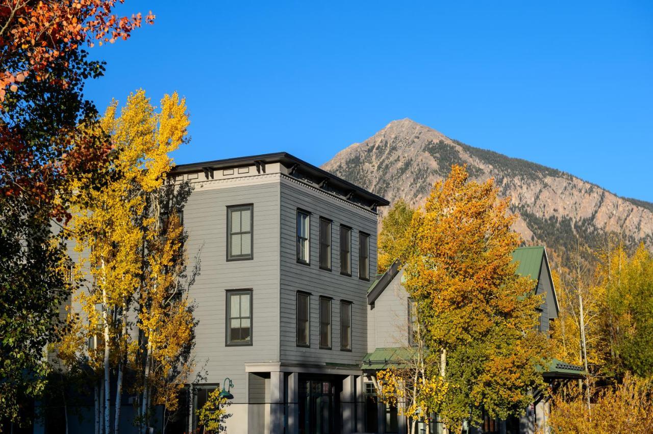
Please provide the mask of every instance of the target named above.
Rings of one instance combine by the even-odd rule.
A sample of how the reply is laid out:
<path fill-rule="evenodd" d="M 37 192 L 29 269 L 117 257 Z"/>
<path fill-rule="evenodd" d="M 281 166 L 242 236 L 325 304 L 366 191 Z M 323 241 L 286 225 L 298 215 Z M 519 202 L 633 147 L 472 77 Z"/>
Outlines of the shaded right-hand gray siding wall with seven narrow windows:
<path fill-rule="evenodd" d="M 311 212 L 310 266 L 296 261 L 296 210 Z M 319 218 L 332 224 L 332 270 L 319 268 Z M 340 224 L 352 227 L 351 277 L 340 274 Z M 370 276 L 376 270 L 377 216 L 290 179 L 281 179 L 281 362 L 359 364 L 367 351 L 367 289 L 358 279 L 358 233 L 370 234 Z M 310 348 L 296 346 L 296 291 L 311 293 Z M 319 297 L 332 297 L 332 349 L 319 348 Z M 353 302 L 352 351 L 340 351 L 340 300 Z"/>

